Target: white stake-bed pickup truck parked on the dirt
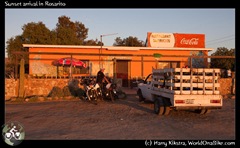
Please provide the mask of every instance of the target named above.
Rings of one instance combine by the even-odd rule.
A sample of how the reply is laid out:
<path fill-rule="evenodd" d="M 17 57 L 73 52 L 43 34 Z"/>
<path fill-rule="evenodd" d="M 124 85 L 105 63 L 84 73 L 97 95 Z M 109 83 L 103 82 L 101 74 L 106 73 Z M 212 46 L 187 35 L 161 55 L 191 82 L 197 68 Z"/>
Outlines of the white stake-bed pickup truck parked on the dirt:
<path fill-rule="evenodd" d="M 153 69 L 138 84 L 137 94 L 139 101 L 154 103 L 159 115 L 168 115 L 172 109 L 206 114 L 222 108 L 219 75 L 217 68 Z"/>

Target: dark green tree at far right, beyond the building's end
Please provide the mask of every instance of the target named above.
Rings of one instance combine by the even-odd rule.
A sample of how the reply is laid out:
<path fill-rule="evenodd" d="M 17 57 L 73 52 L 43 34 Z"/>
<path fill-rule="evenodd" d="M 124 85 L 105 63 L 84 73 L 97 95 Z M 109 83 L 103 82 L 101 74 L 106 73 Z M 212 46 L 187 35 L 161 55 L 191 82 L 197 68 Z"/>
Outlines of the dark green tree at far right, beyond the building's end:
<path fill-rule="evenodd" d="M 217 48 L 217 51 L 211 54 L 211 56 L 235 56 L 235 49 L 228 50 L 225 47 Z M 211 59 L 212 68 L 221 68 L 221 69 L 231 69 L 235 71 L 235 59 L 230 58 L 212 58 Z"/>

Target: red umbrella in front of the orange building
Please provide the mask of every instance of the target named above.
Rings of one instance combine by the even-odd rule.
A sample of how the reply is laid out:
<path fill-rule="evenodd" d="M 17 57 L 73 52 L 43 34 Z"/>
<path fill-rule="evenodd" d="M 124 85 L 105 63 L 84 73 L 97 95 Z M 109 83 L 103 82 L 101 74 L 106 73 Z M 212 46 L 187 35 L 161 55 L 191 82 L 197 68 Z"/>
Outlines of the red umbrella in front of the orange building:
<path fill-rule="evenodd" d="M 55 66 L 75 66 L 75 67 L 84 67 L 86 68 L 86 64 L 83 61 L 80 61 L 76 58 L 71 58 L 71 57 L 65 57 L 65 58 L 61 58 L 58 60 L 54 60 L 52 62 L 53 65 Z"/>

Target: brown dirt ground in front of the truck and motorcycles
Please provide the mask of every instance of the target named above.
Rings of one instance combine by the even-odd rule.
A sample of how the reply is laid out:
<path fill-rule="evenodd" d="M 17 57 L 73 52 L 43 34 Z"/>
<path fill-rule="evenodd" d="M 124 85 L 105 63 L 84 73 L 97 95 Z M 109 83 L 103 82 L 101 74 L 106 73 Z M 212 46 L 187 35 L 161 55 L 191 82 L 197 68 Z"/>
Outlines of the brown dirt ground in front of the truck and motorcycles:
<path fill-rule="evenodd" d="M 5 106 L 6 121 L 24 126 L 26 140 L 235 140 L 235 99 L 223 108 L 200 115 L 174 111 L 153 112 L 153 104 L 134 95 L 98 105 L 82 100 Z"/>

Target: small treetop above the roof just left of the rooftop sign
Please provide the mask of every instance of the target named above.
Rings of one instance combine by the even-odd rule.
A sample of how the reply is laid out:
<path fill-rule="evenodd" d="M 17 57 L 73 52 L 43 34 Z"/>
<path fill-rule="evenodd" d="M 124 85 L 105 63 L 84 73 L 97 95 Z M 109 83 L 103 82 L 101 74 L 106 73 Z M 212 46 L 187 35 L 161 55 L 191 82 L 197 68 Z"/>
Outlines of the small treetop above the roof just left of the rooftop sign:
<path fill-rule="evenodd" d="M 137 37 L 129 36 L 128 38 L 121 39 L 120 37 L 117 37 L 115 39 L 115 42 L 113 46 L 135 46 L 135 47 L 143 47 L 144 42 L 141 40 L 138 40 Z"/>

